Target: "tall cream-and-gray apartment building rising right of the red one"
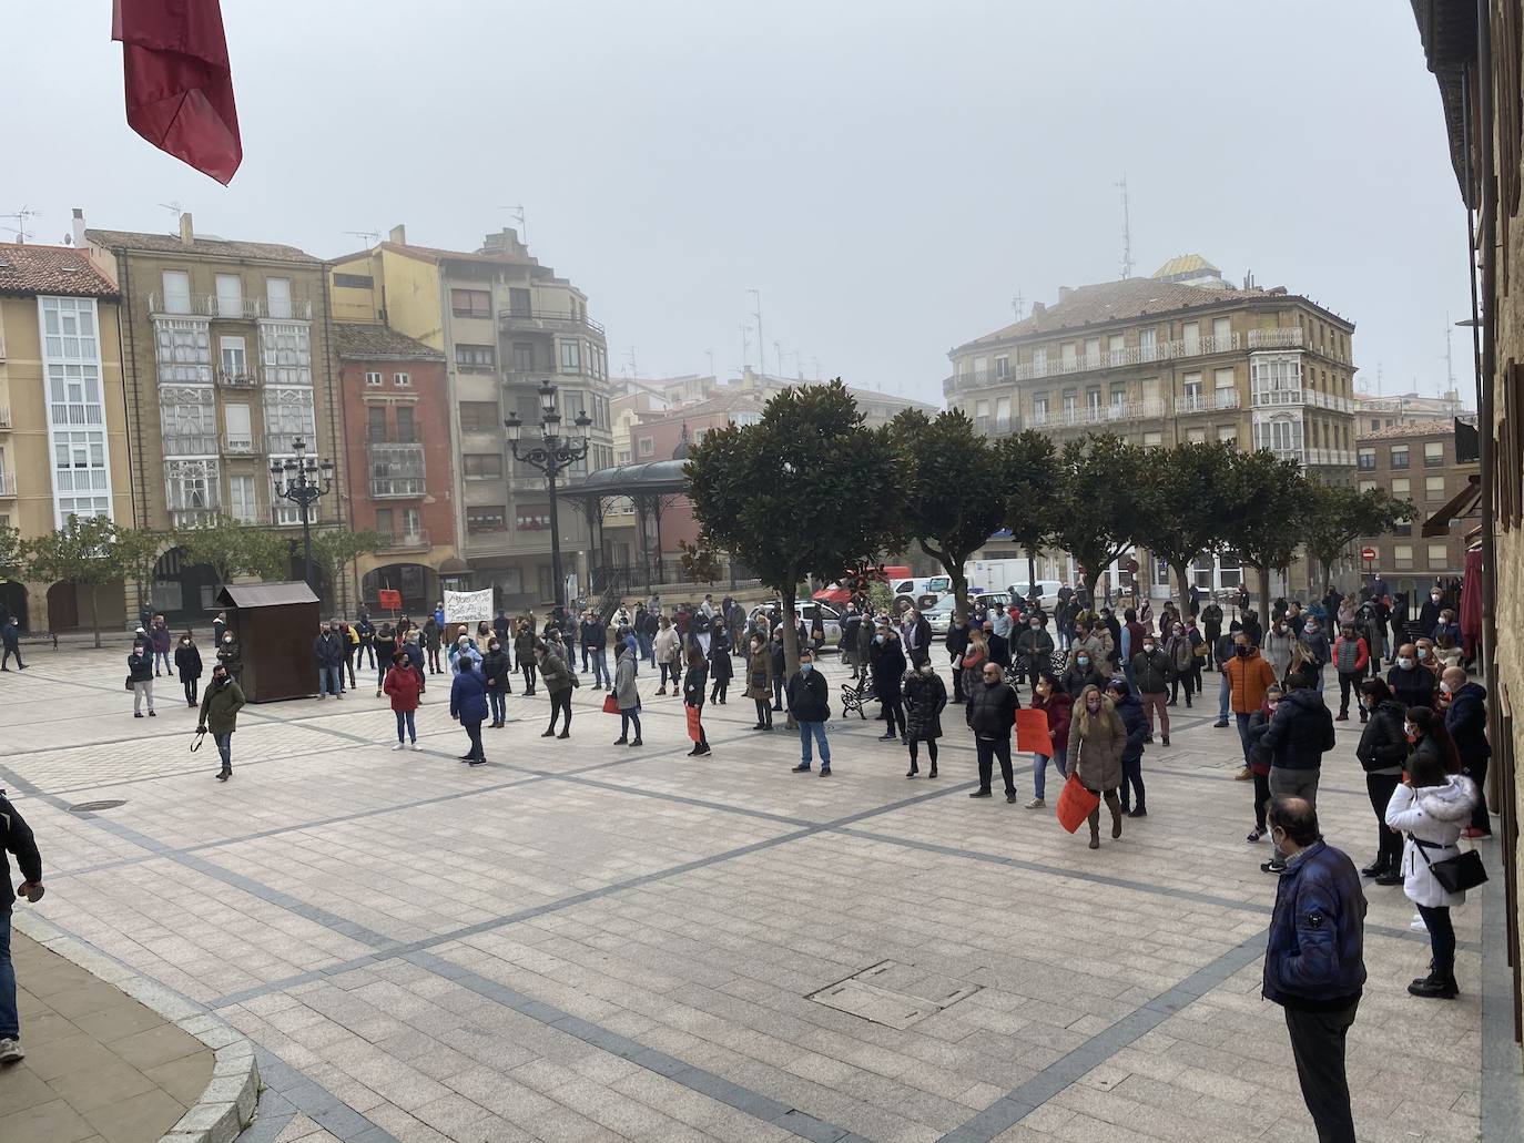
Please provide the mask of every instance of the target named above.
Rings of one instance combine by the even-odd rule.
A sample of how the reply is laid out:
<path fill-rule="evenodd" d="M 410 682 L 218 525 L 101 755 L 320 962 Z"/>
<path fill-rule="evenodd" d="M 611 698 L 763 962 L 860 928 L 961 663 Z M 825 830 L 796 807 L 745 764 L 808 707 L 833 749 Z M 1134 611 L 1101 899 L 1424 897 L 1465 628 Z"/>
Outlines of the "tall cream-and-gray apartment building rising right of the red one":
<path fill-rule="evenodd" d="M 581 413 L 593 421 L 587 460 L 558 483 L 613 465 L 608 346 L 587 296 L 507 229 L 462 251 L 411 244 L 399 226 L 329 271 L 335 322 L 384 325 L 443 354 L 463 582 L 497 588 L 506 607 L 553 599 L 546 479 L 514 460 L 503 421 L 517 411 L 529 437 L 539 422 L 535 390 L 552 381 L 564 430 Z M 567 570 L 587 582 L 587 521 L 562 511 L 559 523 Z"/>

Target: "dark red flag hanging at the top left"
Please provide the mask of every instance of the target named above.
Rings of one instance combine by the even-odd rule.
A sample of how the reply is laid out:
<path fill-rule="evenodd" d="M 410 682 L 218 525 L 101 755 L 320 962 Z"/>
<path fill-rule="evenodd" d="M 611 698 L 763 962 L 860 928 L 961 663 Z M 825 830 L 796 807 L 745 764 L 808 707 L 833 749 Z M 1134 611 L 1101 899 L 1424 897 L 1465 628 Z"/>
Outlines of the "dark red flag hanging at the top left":
<path fill-rule="evenodd" d="M 114 0 L 126 122 L 218 183 L 244 160 L 218 0 Z"/>

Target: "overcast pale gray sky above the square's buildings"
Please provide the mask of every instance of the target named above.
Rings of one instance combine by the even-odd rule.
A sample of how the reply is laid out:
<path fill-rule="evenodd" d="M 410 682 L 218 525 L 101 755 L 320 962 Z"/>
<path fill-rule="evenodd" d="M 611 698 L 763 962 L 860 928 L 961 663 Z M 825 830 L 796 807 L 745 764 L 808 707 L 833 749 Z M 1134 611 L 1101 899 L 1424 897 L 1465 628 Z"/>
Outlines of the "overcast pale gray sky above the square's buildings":
<path fill-rule="evenodd" d="M 1413 15 L 1393 0 L 224 0 L 227 189 L 122 114 L 110 0 L 11 5 L 0 215 L 38 241 L 200 230 L 332 256 L 346 230 L 474 248 L 523 203 L 610 358 L 741 364 L 940 404 L 1010 299 L 1201 253 L 1358 323 L 1361 379 L 1445 383 L 1465 221 Z M 9 219 L 0 218 L 0 226 Z M 3 233 L 3 232 L 0 232 Z M 9 238 L 9 235 L 5 235 Z M 756 335 L 751 335 L 756 363 Z M 1469 337 L 1455 331 L 1469 390 Z"/>

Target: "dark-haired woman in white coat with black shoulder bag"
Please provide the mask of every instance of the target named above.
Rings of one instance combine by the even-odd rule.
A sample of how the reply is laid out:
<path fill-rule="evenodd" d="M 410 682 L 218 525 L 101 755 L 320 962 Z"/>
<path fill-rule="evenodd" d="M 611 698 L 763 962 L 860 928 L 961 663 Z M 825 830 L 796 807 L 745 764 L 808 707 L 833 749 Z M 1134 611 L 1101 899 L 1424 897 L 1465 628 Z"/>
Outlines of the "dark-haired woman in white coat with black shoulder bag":
<path fill-rule="evenodd" d="M 1465 904 L 1465 893 L 1448 893 L 1430 866 L 1460 853 L 1460 831 L 1471 821 L 1477 800 L 1475 783 L 1458 773 L 1455 744 L 1445 732 L 1445 721 L 1430 707 L 1410 707 L 1407 733 L 1413 741 L 1408 754 L 1408 780 L 1393 791 L 1387 803 L 1387 826 L 1407 834 L 1402 847 L 1402 892 L 1419 907 L 1430 931 L 1434 960 L 1430 974 L 1408 985 L 1414 997 L 1452 1000 L 1455 985 L 1455 928 L 1451 905 Z"/>

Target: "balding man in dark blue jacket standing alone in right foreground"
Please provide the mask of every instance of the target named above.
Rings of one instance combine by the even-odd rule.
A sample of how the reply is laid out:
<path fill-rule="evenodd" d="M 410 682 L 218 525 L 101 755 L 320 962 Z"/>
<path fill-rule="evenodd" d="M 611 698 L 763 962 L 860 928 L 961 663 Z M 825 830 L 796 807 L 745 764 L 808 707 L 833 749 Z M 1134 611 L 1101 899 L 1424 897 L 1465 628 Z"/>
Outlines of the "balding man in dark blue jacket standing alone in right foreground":
<path fill-rule="evenodd" d="M 1286 1012 L 1297 1079 L 1318 1143 L 1355 1143 L 1344 1038 L 1366 985 L 1359 872 L 1318 834 L 1318 814 L 1306 799 L 1271 799 L 1268 821 L 1286 870 L 1269 919 L 1263 997 Z"/>

